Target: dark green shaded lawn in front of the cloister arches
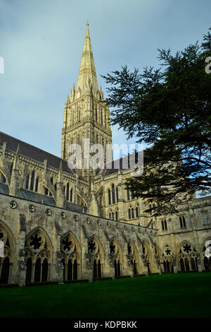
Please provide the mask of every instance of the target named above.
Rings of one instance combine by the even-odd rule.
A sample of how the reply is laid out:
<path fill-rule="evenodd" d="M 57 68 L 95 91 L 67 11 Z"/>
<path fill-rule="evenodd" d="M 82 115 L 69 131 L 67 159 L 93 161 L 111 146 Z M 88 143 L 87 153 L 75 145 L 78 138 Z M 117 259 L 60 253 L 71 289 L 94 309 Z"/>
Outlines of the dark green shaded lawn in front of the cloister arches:
<path fill-rule="evenodd" d="M 211 273 L 0 289 L 0 317 L 210 317 Z"/>

